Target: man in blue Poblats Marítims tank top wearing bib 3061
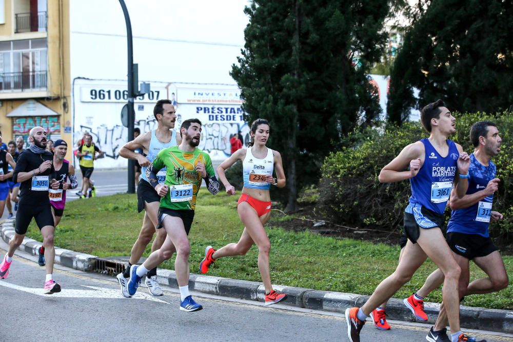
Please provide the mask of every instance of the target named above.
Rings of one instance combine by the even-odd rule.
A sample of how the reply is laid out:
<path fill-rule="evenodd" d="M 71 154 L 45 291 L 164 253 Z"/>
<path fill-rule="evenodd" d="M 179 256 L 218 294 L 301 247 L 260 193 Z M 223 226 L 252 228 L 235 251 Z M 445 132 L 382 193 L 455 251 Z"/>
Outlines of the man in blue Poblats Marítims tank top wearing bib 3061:
<path fill-rule="evenodd" d="M 429 138 L 406 146 L 386 165 L 380 182 L 409 179 L 411 196 L 404 213 L 404 230 L 408 242 L 394 273 L 383 280 L 362 308 L 346 310 L 347 336 L 360 341 L 365 319 L 380 304 L 399 290 L 429 257 L 445 275 L 443 298 L 447 303 L 453 341 L 466 340 L 460 331 L 458 281 L 460 267 L 452 257 L 440 229 L 453 185 L 463 197 L 467 191 L 470 157 L 460 145 L 447 137 L 456 132 L 456 119 L 442 100 L 421 110 L 421 123 Z M 409 166 L 409 170 L 404 171 Z"/>

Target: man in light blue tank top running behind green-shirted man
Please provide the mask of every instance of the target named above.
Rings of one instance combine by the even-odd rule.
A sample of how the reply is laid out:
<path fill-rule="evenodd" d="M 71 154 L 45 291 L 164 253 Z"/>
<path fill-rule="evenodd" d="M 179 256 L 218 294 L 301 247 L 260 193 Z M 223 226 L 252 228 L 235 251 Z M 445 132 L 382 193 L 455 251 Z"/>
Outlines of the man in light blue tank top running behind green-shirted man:
<path fill-rule="evenodd" d="M 120 150 L 120 156 L 137 160 L 142 167 L 141 180 L 137 186 L 137 210 L 141 212 L 145 209 L 143 226 L 139 237 L 135 241 L 130 253 L 130 260 L 124 273 L 117 275 L 117 280 L 121 286 L 121 294 L 125 297 L 131 297 L 126 290 L 126 283 L 130 278 L 130 266 L 137 264 L 143 255 L 146 246 L 150 243 L 155 233 L 155 227 L 158 224 L 157 214 L 159 213 L 159 204 L 161 197 L 156 193 L 155 189 L 148 183 L 146 177 L 146 168 L 151 164 L 153 159 L 159 152 L 165 148 L 173 147 L 182 143 L 180 134 L 173 132 L 174 123 L 176 122 L 176 111 L 168 99 L 159 100 L 153 108 L 153 116 L 157 121 L 157 128 L 137 136 L 131 142 L 128 142 Z M 147 155 L 135 152 L 142 149 Z M 164 184 L 166 169 L 159 173 L 159 182 Z M 151 251 L 159 250 L 166 239 L 166 231 L 164 229 L 156 229 L 156 237 L 151 244 Z M 164 291 L 157 281 L 157 268 L 149 270 L 146 275 L 145 284 L 149 292 L 154 296 L 162 296 Z"/>

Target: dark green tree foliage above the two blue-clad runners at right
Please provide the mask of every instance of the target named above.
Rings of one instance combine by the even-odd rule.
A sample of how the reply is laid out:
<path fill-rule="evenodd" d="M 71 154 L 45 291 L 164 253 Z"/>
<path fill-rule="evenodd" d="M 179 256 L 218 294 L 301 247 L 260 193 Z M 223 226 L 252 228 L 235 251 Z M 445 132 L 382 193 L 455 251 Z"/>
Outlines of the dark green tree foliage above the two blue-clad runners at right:
<path fill-rule="evenodd" d="M 390 77 L 387 112 L 442 98 L 457 111 L 497 112 L 513 101 L 513 0 L 428 3 L 407 31 Z M 418 100 L 413 88 L 420 90 Z"/>

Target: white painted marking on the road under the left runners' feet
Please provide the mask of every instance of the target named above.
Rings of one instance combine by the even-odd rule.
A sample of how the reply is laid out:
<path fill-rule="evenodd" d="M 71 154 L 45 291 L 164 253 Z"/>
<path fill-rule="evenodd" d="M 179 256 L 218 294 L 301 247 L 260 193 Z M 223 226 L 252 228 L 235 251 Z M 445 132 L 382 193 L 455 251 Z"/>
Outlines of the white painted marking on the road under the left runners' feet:
<path fill-rule="evenodd" d="M 35 289 L 35 288 L 29 288 L 25 286 L 19 286 L 7 283 L 5 280 L 0 281 L 0 285 L 4 287 L 8 287 L 14 290 L 19 290 L 23 292 L 32 293 L 38 296 L 49 296 L 48 294 L 44 294 L 44 289 Z M 97 291 L 91 291 L 91 290 L 76 290 L 76 289 L 62 289 L 61 292 L 56 293 L 55 297 L 68 297 L 68 298 L 114 298 L 114 299 L 125 299 L 119 290 L 114 289 L 107 289 L 103 287 L 95 287 L 95 286 L 86 286 L 82 285 L 83 287 L 87 287 L 89 289 L 97 290 Z M 52 295 L 53 296 L 53 295 Z M 146 299 L 150 301 L 156 301 L 157 303 L 164 303 L 169 304 L 167 301 L 155 298 L 153 296 L 150 296 L 144 292 L 136 293 L 132 296 L 134 299 Z"/>

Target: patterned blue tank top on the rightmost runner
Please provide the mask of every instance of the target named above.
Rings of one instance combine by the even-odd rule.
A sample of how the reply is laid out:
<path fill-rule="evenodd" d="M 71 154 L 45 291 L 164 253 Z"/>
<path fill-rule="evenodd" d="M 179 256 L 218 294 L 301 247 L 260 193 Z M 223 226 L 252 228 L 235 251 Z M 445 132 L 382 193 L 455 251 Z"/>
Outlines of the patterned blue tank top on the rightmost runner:
<path fill-rule="evenodd" d="M 468 168 L 467 195 L 483 190 L 490 180 L 495 178 L 496 167 L 490 162 L 488 166 L 479 163 L 474 154 L 470 154 L 470 166 Z M 453 210 L 447 224 L 447 233 L 458 232 L 464 234 L 479 234 L 488 237 L 490 224 L 491 203 L 494 195 L 481 199 L 478 203 L 468 208 Z"/>

